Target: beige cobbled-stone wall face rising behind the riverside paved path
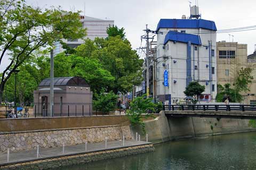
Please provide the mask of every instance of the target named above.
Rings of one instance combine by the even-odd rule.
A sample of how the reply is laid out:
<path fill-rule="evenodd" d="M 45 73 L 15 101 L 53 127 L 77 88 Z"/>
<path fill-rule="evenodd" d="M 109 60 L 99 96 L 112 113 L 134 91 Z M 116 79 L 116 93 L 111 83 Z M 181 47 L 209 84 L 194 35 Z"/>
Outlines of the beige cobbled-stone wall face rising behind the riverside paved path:
<path fill-rule="evenodd" d="M 0 134 L 0 151 L 10 148 L 13 152 L 35 149 L 37 145 L 43 148 L 77 145 L 88 142 L 102 142 L 108 140 L 132 139 L 130 126 L 112 125 L 90 128 L 76 128 L 65 130 L 27 131 L 22 133 Z"/>

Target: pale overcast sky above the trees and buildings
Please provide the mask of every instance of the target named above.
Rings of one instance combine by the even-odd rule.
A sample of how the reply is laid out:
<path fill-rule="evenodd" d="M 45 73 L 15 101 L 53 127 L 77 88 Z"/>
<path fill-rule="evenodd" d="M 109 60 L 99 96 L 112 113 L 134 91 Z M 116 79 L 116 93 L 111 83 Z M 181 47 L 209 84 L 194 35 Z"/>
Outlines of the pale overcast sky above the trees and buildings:
<path fill-rule="evenodd" d="M 195 0 L 190 1 L 191 5 L 195 5 Z M 160 19 L 181 19 L 183 14 L 189 16 L 187 0 L 27 0 L 26 2 L 42 8 L 61 6 L 63 10 L 79 10 L 82 11 L 81 14 L 85 12 L 85 15 L 93 18 L 114 20 L 117 27 L 125 29 L 126 38 L 130 40 L 133 49 L 140 47 L 140 36 L 144 35 L 143 29 L 146 28 L 146 24 L 150 30 L 155 30 Z M 255 0 L 198 0 L 198 6 L 202 19 L 214 21 L 218 30 L 256 25 Z M 232 41 L 232 37 L 228 34 L 234 36 L 234 42 L 247 44 L 247 54 L 254 52 L 256 30 L 218 33 L 217 41 L 229 41 L 229 37 Z M 145 46 L 145 40 L 142 41 L 142 46 Z"/>

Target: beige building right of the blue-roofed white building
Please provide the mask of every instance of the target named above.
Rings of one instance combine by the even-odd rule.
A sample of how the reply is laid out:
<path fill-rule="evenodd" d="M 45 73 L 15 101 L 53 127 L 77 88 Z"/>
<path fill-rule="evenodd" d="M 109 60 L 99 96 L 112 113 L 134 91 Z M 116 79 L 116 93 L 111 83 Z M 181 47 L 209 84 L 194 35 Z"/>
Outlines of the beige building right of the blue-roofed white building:
<path fill-rule="evenodd" d="M 256 54 L 255 54 L 256 55 Z M 248 58 L 249 59 L 249 58 Z M 217 43 L 217 81 L 222 86 L 226 83 L 233 86 L 238 71 L 243 67 L 255 67 L 256 60 L 247 61 L 247 44 L 221 41 Z M 254 62 L 253 62 L 254 61 Z M 250 91 L 243 93 L 244 104 L 256 104 L 256 71 L 253 70 L 253 83 Z"/>

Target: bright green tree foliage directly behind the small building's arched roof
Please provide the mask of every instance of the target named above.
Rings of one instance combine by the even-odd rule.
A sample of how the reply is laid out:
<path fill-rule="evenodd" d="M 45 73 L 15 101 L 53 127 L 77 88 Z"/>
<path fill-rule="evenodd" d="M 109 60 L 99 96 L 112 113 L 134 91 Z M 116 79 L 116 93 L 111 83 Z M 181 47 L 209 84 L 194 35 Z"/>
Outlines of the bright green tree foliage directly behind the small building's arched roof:
<path fill-rule="evenodd" d="M 54 76 L 82 77 L 90 84 L 93 95 L 99 94 L 102 88 L 111 88 L 115 80 L 97 59 L 75 54 L 66 56 L 64 53 L 54 57 Z"/>

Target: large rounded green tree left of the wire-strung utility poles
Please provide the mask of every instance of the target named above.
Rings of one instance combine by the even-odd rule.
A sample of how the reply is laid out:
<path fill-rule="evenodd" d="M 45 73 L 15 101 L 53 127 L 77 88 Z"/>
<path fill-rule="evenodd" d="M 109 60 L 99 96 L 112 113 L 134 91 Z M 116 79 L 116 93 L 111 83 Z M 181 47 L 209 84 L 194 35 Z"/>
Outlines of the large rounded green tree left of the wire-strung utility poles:
<path fill-rule="evenodd" d="M 86 50 L 86 48 L 83 49 L 83 51 Z M 123 40 L 120 36 L 100 41 L 100 48 L 94 50 L 91 57 L 97 58 L 115 77 L 114 86 L 109 89 L 115 93 L 130 91 L 133 85 L 138 85 L 142 81 L 143 60 L 135 50 L 132 50 L 130 42 Z"/>

